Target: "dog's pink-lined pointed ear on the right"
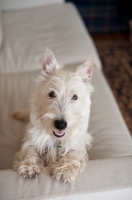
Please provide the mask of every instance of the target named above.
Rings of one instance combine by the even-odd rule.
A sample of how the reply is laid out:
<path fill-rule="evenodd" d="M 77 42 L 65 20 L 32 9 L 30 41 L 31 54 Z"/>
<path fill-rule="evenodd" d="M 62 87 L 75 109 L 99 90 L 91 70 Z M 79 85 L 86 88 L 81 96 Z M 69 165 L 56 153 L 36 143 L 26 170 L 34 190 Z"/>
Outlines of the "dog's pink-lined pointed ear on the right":
<path fill-rule="evenodd" d="M 87 60 L 83 65 L 77 68 L 77 73 L 81 76 L 83 82 L 91 83 L 93 73 L 93 61 Z"/>

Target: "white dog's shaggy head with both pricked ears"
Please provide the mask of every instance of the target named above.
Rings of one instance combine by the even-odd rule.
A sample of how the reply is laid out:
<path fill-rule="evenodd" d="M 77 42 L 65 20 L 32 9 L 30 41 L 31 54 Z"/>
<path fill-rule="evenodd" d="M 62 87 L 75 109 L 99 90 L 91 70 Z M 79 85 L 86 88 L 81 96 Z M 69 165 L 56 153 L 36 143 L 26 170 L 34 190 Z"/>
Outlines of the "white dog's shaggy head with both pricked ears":
<path fill-rule="evenodd" d="M 31 120 L 52 137 L 69 138 L 88 127 L 93 63 L 87 60 L 75 72 L 66 71 L 48 50 L 38 87 L 32 98 Z"/>

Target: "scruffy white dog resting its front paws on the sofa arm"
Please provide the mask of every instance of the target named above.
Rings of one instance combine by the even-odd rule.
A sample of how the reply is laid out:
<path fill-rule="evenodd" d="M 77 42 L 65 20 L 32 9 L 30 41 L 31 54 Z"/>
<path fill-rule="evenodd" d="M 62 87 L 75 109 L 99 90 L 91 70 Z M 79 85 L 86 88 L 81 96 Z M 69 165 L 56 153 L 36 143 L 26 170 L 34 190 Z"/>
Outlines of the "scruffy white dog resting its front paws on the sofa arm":
<path fill-rule="evenodd" d="M 56 180 L 70 182 L 85 169 L 91 76 L 93 64 L 87 60 L 76 72 L 66 71 L 48 50 L 37 88 L 31 100 L 30 123 L 14 169 L 23 177 L 37 177 L 51 166 Z"/>

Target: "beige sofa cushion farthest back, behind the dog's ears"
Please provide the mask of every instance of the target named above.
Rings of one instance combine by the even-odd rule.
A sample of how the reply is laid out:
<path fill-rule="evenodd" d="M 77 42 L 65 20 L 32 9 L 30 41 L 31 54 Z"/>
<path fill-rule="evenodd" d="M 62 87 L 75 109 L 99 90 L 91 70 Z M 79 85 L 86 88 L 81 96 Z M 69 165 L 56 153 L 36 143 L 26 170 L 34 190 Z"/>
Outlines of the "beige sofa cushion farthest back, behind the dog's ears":
<path fill-rule="evenodd" d="M 3 29 L 2 74 L 40 69 L 46 48 L 65 65 L 92 57 L 101 67 L 95 46 L 72 4 L 4 12 Z"/>

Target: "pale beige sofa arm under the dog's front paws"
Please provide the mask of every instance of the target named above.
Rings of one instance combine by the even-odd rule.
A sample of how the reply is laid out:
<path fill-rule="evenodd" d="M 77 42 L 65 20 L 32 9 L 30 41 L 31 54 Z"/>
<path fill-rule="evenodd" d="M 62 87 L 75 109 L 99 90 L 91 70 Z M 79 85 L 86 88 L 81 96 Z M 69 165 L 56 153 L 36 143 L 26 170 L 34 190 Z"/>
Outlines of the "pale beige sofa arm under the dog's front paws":
<path fill-rule="evenodd" d="M 125 199 L 129 199 L 127 195 L 132 199 L 132 156 L 89 161 L 84 173 L 80 174 L 74 182 L 64 184 L 53 180 L 48 173 L 42 173 L 38 178 L 24 179 L 13 170 L 0 171 L 0 199 L 2 200 L 52 198 L 64 200 L 88 197 L 93 200 L 102 199 L 96 194 L 103 192 L 103 195 L 109 197 L 107 192 L 112 194 L 112 191 L 124 189 Z M 119 195 L 121 193 L 118 192 Z M 94 198 L 90 198 L 91 194 Z"/>

